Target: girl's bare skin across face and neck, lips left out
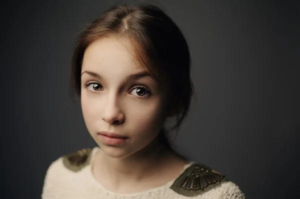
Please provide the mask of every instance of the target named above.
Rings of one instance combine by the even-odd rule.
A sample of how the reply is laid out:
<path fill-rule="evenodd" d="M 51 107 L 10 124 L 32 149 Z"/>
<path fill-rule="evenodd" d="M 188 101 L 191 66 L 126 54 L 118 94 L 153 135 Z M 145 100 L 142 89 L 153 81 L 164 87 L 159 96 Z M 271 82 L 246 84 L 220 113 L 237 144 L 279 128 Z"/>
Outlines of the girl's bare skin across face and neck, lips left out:
<path fill-rule="evenodd" d="M 159 147 L 156 136 L 168 115 L 167 92 L 153 77 L 145 75 L 147 71 L 131 56 L 132 49 L 124 36 L 95 40 L 84 52 L 81 69 L 84 122 L 101 148 L 92 164 L 93 175 L 116 193 L 164 185 L 176 178 L 186 164 Z M 135 75 L 141 73 L 143 76 Z M 100 131 L 128 139 L 119 146 L 106 145 L 97 135 Z"/>

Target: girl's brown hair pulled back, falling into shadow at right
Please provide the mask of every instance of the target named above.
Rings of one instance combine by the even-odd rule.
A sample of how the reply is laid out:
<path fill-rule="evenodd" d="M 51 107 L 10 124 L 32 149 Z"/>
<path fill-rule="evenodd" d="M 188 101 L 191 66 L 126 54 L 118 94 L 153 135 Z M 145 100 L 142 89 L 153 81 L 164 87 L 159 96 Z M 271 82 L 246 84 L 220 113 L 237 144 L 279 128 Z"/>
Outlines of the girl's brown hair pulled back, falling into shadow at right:
<path fill-rule="evenodd" d="M 71 63 L 71 94 L 80 96 L 81 63 L 86 47 L 105 36 L 126 35 L 134 43 L 134 56 L 169 89 L 169 110 L 176 116 L 171 130 L 179 130 L 185 119 L 193 93 L 190 79 L 189 49 L 176 24 L 154 5 L 115 5 L 85 27 L 78 38 Z M 164 145 L 164 129 L 159 133 Z"/>

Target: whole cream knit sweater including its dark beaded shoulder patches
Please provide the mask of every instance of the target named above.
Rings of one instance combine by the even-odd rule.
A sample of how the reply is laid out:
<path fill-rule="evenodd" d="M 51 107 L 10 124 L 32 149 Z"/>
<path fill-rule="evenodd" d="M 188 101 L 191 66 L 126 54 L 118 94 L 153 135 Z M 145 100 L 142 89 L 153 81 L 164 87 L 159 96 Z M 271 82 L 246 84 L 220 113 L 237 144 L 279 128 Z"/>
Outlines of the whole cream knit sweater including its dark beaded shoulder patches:
<path fill-rule="evenodd" d="M 77 155 L 69 155 L 58 158 L 48 168 L 42 189 L 42 199 L 244 199 L 243 193 L 232 182 L 219 179 L 216 183 L 205 186 L 204 189 L 194 189 L 200 184 L 187 181 L 196 174 L 191 170 L 194 162 L 185 165 L 181 175 L 163 186 L 133 194 L 117 194 L 104 188 L 95 180 L 91 163 L 98 147 L 90 152 L 86 150 L 77 152 Z M 78 156 L 79 154 L 79 156 Z M 79 158 L 78 158 L 79 157 Z M 69 164 L 73 163 L 73 164 Z M 69 165 L 68 165 L 69 164 Z M 194 167 L 199 168 L 199 166 Z M 207 167 L 208 168 L 208 167 Z M 201 169 L 203 170 L 203 169 Z M 211 170 L 209 170 L 211 171 Z M 214 171 L 214 170 L 213 170 Z M 187 173 L 186 173 L 187 172 Z M 189 173 L 188 173 L 189 172 Z M 192 173 L 191 173 L 192 172 Z M 208 171 L 207 171 L 208 172 Z M 205 173 L 205 171 L 204 171 Z M 211 173 L 211 172 L 209 172 Z M 214 174 L 219 174 L 215 172 Z M 188 176 L 188 178 L 187 178 Z M 211 176 L 213 174 L 211 173 Z M 215 176 L 215 175 L 214 175 Z M 199 177 L 199 175 L 197 175 Z M 185 181 L 178 181 L 185 178 Z M 207 178 L 209 179 L 209 178 Z M 204 181 L 207 182 L 207 179 Z M 181 187 L 178 182 L 181 182 Z M 185 184 L 185 185 L 182 185 Z M 193 185 L 192 185 L 193 184 Z M 202 183 L 203 184 L 203 183 Z M 188 185 L 191 190 L 188 190 Z M 194 186 L 194 187 L 193 187 Z M 185 188 L 185 189 L 184 189 Z M 200 187 L 199 187 L 200 188 Z M 194 190 L 193 190 L 194 189 Z"/>

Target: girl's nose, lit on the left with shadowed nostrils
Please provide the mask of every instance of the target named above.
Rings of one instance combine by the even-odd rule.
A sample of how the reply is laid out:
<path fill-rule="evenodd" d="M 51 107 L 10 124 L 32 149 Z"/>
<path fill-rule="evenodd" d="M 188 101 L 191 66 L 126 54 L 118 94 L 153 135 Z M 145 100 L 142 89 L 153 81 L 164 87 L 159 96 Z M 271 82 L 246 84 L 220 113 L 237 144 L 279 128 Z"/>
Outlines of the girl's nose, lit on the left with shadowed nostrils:
<path fill-rule="evenodd" d="M 111 125 L 122 124 L 124 122 L 124 113 L 119 107 L 116 96 L 107 100 L 107 103 L 104 105 L 101 118 Z"/>

